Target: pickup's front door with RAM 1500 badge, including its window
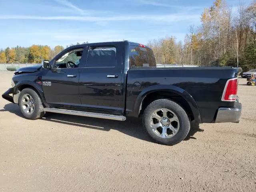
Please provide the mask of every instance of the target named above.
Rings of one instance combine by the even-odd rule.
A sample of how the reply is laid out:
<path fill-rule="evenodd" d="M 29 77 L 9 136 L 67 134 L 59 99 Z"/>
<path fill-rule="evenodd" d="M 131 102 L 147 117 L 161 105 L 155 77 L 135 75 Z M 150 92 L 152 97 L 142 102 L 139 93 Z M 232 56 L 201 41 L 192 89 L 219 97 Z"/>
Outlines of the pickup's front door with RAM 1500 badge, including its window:
<path fill-rule="evenodd" d="M 80 62 L 84 48 L 64 50 L 53 66 L 42 77 L 43 91 L 46 102 L 50 105 L 76 106 L 80 105 L 78 82 Z"/>

